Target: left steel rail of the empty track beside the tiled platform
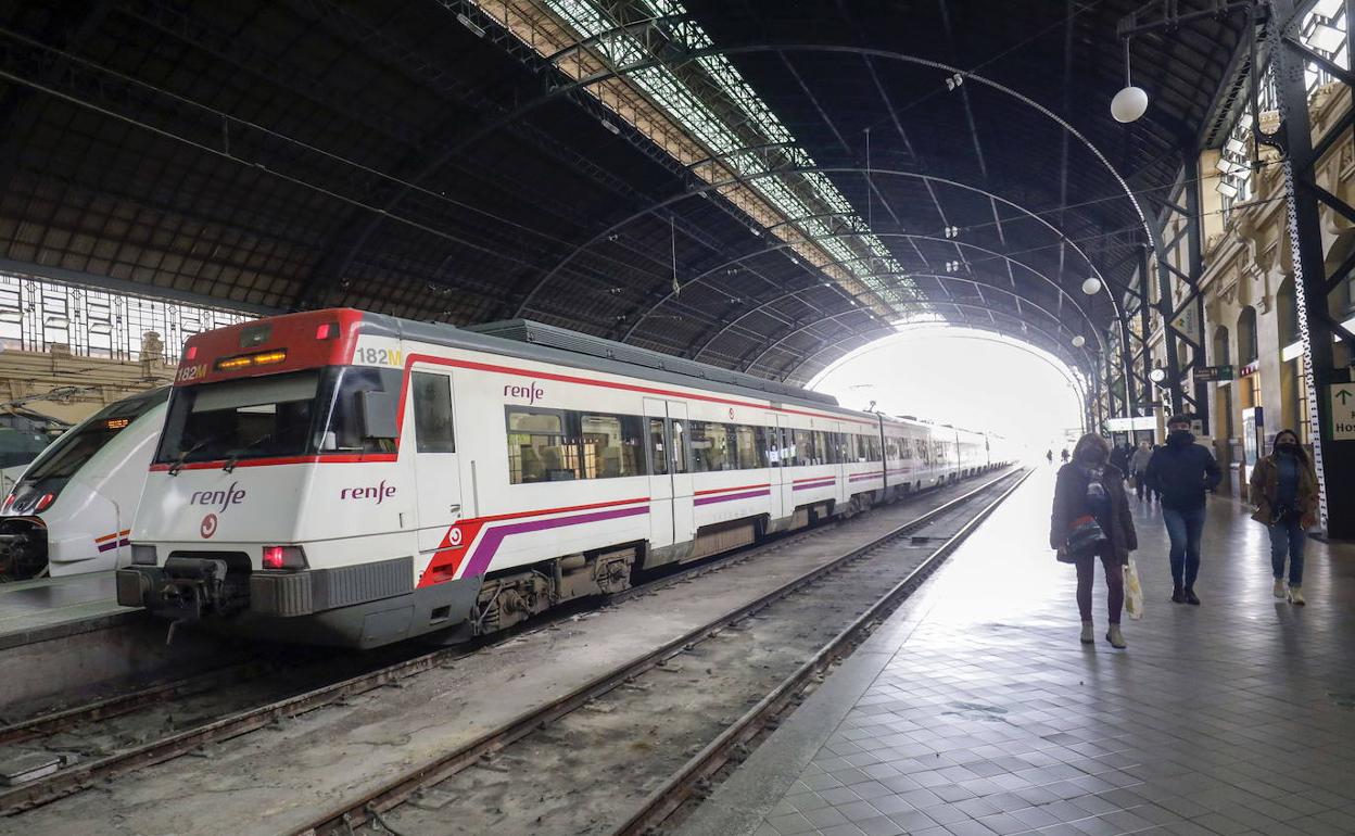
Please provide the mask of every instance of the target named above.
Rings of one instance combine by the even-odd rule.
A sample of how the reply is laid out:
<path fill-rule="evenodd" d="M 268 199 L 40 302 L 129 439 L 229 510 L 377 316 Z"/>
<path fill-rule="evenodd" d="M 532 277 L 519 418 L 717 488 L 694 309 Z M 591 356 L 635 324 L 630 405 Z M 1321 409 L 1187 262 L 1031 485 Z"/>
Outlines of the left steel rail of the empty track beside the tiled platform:
<path fill-rule="evenodd" d="M 1016 484 L 1023 482 L 1030 473 L 1034 470 L 1027 470 L 1018 476 Z M 775 589 L 760 595 L 759 598 L 736 607 L 734 610 L 720 615 L 705 625 L 688 630 L 687 633 L 664 642 L 659 648 L 641 653 L 640 656 L 631 659 L 622 665 L 618 665 L 604 673 L 595 676 L 583 686 L 575 688 L 573 691 L 557 696 L 550 702 L 523 711 L 518 717 L 509 719 L 508 722 L 500 725 L 496 729 L 481 734 L 480 737 L 455 748 L 454 751 L 442 755 L 431 761 L 420 764 L 415 770 L 405 772 L 404 775 L 382 785 L 381 787 L 367 791 L 358 798 L 343 801 L 339 805 L 325 810 L 318 814 L 310 825 L 301 829 L 293 831 L 297 836 L 331 836 L 337 833 L 351 833 L 352 828 L 366 824 L 377 818 L 381 813 L 398 806 L 411 798 L 420 789 L 438 783 L 455 775 L 457 772 L 465 770 L 466 767 L 480 761 L 482 757 L 491 756 L 495 752 L 508 747 L 509 744 L 526 737 L 531 732 L 543 728 L 566 714 L 573 713 L 581 706 L 587 705 L 589 701 L 611 691 L 612 688 L 623 684 L 625 682 L 633 679 L 634 676 L 648 671 L 653 667 L 661 665 L 667 660 L 672 659 L 687 650 L 691 645 L 710 638 L 715 633 L 724 630 L 732 623 L 737 623 L 756 612 L 767 608 L 772 603 L 791 595 L 814 583 L 816 580 L 841 569 L 844 565 L 855 561 L 856 558 L 864 556 L 893 539 L 897 539 L 920 526 L 934 522 L 936 518 L 959 508 L 961 505 L 969 503 L 972 499 L 984 493 L 1001 482 L 1003 480 L 1016 476 L 1019 472 L 1008 469 L 1001 476 L 995 480 L 985 482 L 984 485 L 958 496 L 931 511 L 924 512 L 913 520 L 902 523 L 893 530 L 882 534 L 871 541 L 855 546 L 847 553 L 822 564 L 821 566 L 801 574 L 799 577 L 790 580 Z M 1014 486 L 1015 488 L 1015 486 Z M 1008 492 L 1003 495 L 1007 496 Z M 928 561 L 932 558 L 928 557 Z"/>

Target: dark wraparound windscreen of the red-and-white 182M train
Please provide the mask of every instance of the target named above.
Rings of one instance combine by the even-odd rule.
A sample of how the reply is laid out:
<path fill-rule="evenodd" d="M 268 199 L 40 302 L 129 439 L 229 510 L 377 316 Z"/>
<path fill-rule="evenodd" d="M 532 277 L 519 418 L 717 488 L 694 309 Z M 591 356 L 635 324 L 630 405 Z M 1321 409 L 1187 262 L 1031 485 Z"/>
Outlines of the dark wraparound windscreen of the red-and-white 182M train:
<path fill-rule="evenodd" d="M 400 371 L 354 366 L 176 389 L 157 462 L 244 461 L 393 451 L 363 438 L 360 392 L 398 392 Z"/>

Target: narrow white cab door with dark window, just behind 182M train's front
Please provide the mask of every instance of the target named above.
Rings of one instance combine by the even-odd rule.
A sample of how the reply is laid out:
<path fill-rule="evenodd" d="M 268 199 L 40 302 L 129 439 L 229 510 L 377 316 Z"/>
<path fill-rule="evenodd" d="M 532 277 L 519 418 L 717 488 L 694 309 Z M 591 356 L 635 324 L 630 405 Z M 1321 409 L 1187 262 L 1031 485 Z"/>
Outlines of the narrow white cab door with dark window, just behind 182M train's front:
<path fill-rule="evenodd" d="M 453 523 L 462 518 L 451 392 L 449 374 L 413 371 L 409 375 L 406 409 L 413 415 L 420 553 L 442 547 Z"/>

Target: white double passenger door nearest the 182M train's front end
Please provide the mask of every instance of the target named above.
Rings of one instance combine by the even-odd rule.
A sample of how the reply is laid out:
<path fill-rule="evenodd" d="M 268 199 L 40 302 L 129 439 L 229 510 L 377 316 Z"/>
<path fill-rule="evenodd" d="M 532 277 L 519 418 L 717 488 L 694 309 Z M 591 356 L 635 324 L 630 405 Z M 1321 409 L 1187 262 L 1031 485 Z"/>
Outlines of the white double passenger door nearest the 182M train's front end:
<path fill-rule="evenodd" d="M 649 539 L 654 547 L 694 537 L 687 467 L 687 405 L 645 398 L 649 434 Z"/>

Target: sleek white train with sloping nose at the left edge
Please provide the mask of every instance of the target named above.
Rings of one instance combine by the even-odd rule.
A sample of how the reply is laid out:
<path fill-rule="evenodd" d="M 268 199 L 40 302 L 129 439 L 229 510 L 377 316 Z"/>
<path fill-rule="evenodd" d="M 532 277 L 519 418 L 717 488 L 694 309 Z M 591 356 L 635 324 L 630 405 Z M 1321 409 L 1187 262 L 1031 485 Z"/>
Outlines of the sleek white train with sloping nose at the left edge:
<path fill-rule="evenodd" d="M 127 557 L 168 400 L 160 386 L 108 404 L 24 467 L 0 505 L 0 577 L 111 570 Z"/>

